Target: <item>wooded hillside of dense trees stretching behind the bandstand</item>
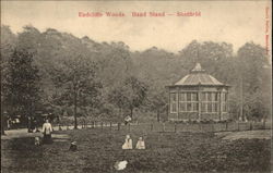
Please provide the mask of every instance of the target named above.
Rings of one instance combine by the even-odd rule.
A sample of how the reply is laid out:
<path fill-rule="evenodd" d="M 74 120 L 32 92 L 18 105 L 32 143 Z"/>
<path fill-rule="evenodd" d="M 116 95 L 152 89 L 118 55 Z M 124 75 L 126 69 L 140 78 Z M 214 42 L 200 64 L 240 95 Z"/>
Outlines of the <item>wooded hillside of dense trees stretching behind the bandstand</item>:
<path fill-rule="evenodd" d="M 269 118 L 272 69 L 265 49 L 254 42 L 236 52 L 232 44 L 210 40 L 192 40 L 178 53 L 156 47 L 131 51 L 124 42 L 96 42 L 33 26 L 14 34 L 5 25 L 1 26 L 1 114 L 43 112 L 63 121 L 121 121 L 129 114 L 139 122 L 166 120 L 165 87 L 197 62 L 232 85 L 234 120 L 240 114 L 248 120 Z"/>

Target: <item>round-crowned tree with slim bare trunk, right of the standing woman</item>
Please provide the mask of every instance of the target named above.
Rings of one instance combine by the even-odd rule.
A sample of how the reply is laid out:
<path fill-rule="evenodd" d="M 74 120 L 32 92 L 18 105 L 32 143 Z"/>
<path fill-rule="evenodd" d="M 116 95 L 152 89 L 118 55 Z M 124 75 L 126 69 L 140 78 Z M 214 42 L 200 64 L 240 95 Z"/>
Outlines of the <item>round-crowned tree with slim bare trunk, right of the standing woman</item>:
<path fill-rule="evenodd" d="M 100 83 L 96 78 L 96 64 L 83 57 L 67 60 L 52 71 L 52 81 L 57 88 L 62 88 L 56 103 L 73 106 L 74 128 L 78 128 L 78 109 L 98 107 Z"/>

